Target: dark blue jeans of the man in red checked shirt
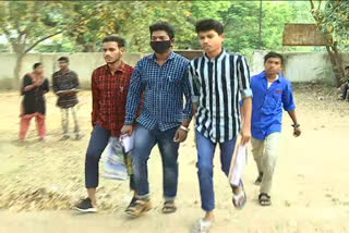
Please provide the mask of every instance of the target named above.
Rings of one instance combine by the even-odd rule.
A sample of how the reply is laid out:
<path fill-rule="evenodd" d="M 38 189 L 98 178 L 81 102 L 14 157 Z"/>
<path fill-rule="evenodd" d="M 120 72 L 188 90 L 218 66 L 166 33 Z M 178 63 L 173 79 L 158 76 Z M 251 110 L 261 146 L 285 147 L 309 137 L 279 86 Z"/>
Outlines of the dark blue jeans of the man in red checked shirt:
<path fill-rule="evenodd" d="M 99 160 L 108 145 L 110 131 L 96 125 L 92 132 L 85 160 L 85 186 L 86 188 L 98 187 Z M 130 188 L 134 189 L 133 175 L 130 177 Z"/>

